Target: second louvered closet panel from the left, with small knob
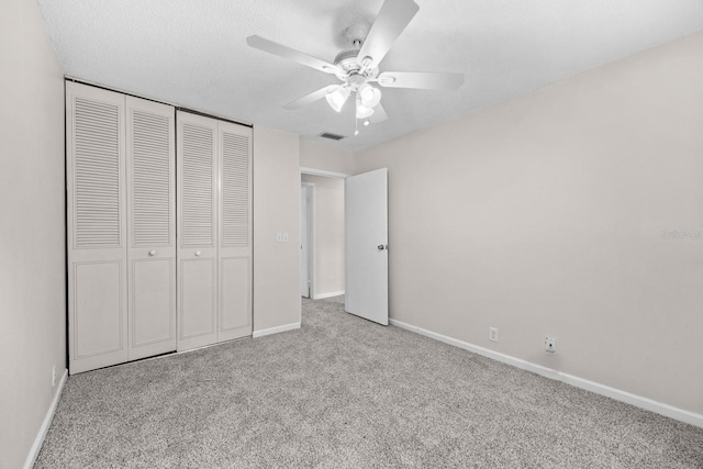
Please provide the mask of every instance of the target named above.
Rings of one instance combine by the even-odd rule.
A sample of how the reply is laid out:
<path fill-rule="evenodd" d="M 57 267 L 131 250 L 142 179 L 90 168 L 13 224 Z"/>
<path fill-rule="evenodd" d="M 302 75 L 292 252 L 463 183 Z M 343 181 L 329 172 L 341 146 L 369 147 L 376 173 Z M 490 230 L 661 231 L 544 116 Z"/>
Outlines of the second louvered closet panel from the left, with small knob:
<path fill-rule="evenodd" d="M 175 109 L 126 97 L 129 358 L 176 349 Z"/>

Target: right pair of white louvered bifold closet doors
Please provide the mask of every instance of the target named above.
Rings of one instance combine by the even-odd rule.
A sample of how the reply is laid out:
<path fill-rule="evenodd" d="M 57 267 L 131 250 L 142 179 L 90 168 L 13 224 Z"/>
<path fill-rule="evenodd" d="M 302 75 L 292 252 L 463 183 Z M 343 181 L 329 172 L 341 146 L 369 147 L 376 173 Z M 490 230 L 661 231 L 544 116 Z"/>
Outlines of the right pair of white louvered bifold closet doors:
<path fill-rule="evenodd" d="M 178 112 L 178 349 L 252 334 L 252 130 Z"/>

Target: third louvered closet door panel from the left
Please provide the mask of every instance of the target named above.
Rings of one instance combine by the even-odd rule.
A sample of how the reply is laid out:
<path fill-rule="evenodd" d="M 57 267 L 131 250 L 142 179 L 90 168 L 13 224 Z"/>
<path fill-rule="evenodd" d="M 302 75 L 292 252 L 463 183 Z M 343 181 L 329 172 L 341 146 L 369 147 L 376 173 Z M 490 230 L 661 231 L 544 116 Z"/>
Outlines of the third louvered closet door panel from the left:
<path fill-rule="evenodd" d="M 177 113 L 178 350 L 217 339 L 217 121 Z"/>

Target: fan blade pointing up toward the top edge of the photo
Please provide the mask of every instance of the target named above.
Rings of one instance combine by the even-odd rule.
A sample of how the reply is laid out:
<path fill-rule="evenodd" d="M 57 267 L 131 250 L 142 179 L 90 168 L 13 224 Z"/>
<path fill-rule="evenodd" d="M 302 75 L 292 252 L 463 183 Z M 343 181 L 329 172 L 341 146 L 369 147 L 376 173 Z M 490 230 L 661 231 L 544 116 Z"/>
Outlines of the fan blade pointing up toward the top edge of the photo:
<path fill-rule="evenodd" d="M 377 67 L 417 10 L 420 7 L 413 0 L 386 0 L 364 40 L 357 56 L 359 64 L 366 69 Z"/>

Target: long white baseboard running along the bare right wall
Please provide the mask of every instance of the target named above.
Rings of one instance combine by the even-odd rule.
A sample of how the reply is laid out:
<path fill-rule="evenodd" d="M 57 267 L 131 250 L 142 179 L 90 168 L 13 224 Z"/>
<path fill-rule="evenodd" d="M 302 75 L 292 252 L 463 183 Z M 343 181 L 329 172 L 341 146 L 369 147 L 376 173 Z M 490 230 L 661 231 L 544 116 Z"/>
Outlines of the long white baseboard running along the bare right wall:
<path fill-rule="evenodd" d="M 479 347 L 478 345 L 469 344 L 468 342 L 459 340 L 448 337 L 446 335 L 437 334 L 432 331 L 424 330 L 422 327 L 413 326 L 411 324 L 403 323 L 402 321 L 390 320 L 391 325 L 414 332 L 420 335 L 424 335 L 435 340 L 444 342 L 445 344 L 454 345 L 455 347 L 462 348 L 465 350 L 472 351 L 478 355 L 491 358 L 496 361 L 501 361 L 513 367 L 532 371 L 534 373 L 544 376 L 546 378 L 562 381 L 577 388 L 584 389 L 587 391 L 594 392 L 596 394 L 605 395 L 616 401 L 625 402 L 627 404 L 635 405 L 636 407 L 651 411 L 680 422 L 688 423 L 703 428 L 703 415 L 693 412 L 685 411 L 683 409 L 674 407 L 673 405 L 665 404 L 662 402 L 654 401 L 641 395 L 633 394 L 627 391 L 611 388 L 605 384 L 601 384 L 594 381 L 589 381 L 583 378 L 576 377 L 573 375 L 557 371 L 551 368 L 543 367 L 531 361 L 525 361 L 520 358 L 511 357 L 510 355 L 501 354 L 499 351 L 490 350 L 488 348 Z"/>

